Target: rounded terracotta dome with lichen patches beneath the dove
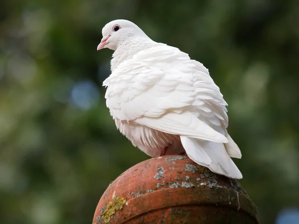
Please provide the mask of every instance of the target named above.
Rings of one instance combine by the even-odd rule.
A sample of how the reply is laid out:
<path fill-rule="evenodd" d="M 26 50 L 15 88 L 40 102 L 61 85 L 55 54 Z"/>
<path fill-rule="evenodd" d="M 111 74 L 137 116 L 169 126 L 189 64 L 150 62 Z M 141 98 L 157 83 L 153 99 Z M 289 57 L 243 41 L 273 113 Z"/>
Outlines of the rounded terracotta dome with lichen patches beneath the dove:
<path fill-rule="evenodd" d="M 187 156 L 141 162 L 109 185 L 93 224 L 258 224 L 257 210 L 234 179 Z"/>

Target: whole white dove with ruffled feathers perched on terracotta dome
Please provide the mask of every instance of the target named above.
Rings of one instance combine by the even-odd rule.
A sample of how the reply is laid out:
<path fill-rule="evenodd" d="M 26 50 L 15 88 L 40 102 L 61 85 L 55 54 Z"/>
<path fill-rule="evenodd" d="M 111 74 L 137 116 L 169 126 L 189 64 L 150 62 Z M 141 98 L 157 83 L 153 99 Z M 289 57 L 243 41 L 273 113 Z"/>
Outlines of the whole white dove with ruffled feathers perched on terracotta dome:
<path fill-rule="evenodd" d="M 227 103 L 208 69 L 178 48 L 151 40 L 118 19 L 102 29 L 98 50 L 114 50 L 106 105 L 117 128 L 151 157 L 186 152 L 212 172 L 241 179 L 241 151 L 227 133 Z"/>

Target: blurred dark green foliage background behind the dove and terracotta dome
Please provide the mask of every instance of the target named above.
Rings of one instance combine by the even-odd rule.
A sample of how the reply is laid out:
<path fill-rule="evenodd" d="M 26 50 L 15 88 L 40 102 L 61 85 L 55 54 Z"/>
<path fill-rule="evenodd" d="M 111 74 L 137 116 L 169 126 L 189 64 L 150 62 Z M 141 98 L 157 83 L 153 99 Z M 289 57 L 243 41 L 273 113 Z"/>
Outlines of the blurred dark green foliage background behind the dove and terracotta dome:
<path fill-rule="evenodd" d="M 115 127 L 102 27 L 125 18 L 209 68 L 263 224 L 299 223 L 298 0 L 1 0 L 0 223 L 89 224 L 149 157 Z"/>

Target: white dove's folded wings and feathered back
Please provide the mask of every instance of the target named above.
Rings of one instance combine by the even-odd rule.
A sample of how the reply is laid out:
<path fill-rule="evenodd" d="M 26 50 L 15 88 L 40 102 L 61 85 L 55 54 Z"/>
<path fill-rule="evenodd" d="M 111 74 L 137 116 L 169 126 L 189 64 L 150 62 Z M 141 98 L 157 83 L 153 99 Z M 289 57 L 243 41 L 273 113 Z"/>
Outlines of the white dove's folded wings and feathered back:
<path fill-rule="evenodd" d="M 228 142 L 224 133 L 211 127 L 223 130 L 227 123 L 219 88 L 201 63 L 177 48 L 159 44 L 140 51 L 115 68 L 103 85 L 108 86 L 107 106 L 120 120 L 170 134 Z"/>

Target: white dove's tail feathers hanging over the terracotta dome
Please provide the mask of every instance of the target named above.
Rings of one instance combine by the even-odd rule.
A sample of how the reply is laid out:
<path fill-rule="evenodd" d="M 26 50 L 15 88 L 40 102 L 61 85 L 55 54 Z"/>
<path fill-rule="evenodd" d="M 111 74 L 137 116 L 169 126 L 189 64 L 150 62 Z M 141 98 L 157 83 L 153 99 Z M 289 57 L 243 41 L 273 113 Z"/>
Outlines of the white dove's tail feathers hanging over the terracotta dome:
<path fill-rule="evenodd" d="M 237 144 L 226 132 L 228 143 L 218 143 L 180 136 L 187 155 L 199 165 L 229 178 L 242 179 L 242 174 L 230 157 L 241 158 Z"/>

